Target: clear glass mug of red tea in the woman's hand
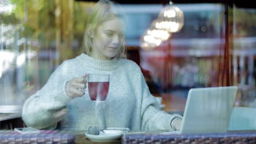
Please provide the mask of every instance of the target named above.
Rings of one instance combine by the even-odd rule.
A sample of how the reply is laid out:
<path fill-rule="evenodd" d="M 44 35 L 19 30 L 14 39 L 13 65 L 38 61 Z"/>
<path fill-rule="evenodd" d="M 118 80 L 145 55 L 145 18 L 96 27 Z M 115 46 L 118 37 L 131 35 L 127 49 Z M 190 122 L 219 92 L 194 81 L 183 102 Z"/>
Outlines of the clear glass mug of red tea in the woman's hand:
<path fill-rule="evenodd" d="M 109 89 L 108 74 L 88 74 L 87 82 L 91 100 L 104 101 L 107 99 Z"/>

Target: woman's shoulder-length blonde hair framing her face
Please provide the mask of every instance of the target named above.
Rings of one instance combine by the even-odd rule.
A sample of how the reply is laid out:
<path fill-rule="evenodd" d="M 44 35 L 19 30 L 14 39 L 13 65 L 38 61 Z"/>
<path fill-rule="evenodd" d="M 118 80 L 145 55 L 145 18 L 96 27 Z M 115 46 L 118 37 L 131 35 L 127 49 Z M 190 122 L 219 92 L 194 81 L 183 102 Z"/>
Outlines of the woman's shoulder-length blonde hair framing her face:
<path fill-rule="evenodd" d="M 82 50 L 86 55 L 91 55 L 92 51 L 92 41 L 93 38 L 91 38 L 92 32 L 96 32 L 96 29 L 103 23 L 115 18 L 119 18 L 120 14 L 117 14 L 115 9 L 113 8 L 113 5 L 117 4 L 109 0 L 100 0 L 98 1 L 94 8 L 91 11 L 91 14 L 88 19 L 88 23 L 85 29 L 84 33 L 84 39 L 83 39 L 83 45 Z M 121 40 L 120 49 L 117 53 L 117 55 L 114 56 L 114 58 L 120 59 L 120 58 L 126 58 L 126 47 L 125 47 L 125 41 L 124 38 Z"/>

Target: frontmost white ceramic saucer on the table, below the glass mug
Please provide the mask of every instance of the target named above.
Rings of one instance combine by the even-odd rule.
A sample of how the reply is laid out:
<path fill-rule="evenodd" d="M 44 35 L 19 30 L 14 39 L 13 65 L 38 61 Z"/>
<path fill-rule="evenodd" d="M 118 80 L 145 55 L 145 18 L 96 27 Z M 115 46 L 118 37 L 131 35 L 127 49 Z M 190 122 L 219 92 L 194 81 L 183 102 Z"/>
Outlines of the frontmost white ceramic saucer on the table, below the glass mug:
<path fill-rule="evenodd" d="M 85 136 L 93 142 L 110 142 L 118 140 L 122 137 L 123 131 L 121 130 L 103 130 L 100 131 L 100 135 L 91 135 L 88 132 L 85 133 Z"/>

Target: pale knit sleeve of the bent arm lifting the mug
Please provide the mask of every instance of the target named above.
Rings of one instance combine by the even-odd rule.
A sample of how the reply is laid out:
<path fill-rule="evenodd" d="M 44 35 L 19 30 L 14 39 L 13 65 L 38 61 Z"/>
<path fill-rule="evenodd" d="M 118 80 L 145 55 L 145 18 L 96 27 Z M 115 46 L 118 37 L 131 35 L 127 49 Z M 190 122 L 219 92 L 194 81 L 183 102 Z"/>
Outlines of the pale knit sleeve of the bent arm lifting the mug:
<path fill-rule="evenodd" d="M 29 97 L 22 109 L 22 119 L 28 127 L 37 129 L 55 129 L 62 117 L 56 113 L 66 108 L 72 100 L 66 94 L 68 64 L 63 62 L 50 76 L 45 86 Z"/>

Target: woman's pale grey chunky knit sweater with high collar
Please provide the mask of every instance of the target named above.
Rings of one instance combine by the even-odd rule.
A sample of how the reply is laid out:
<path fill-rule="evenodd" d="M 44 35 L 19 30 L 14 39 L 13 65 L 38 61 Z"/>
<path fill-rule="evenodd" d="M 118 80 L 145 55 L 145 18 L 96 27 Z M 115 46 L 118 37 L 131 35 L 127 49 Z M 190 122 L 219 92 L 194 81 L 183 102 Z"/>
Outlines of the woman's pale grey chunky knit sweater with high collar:
<path fill-rule="evenodd" d="M 66 83 L 86 73 L 110 75 L 106 101 L 91 101 L 88 92 L 83 97 L 68 97 Z M 67 114 L 55 118 L 63 108 Z M 61 129 L 74 131 L 85 131 L 92 125 L 171 131 L 170 123 L 176 116 L 160 111 L 136 63 L 127 59 L 101 61 L 85 54 L 64 61 L 46 85 L 26 100 L 22 110 L 28 127 L 55 129 L 61 121 Z"/>

